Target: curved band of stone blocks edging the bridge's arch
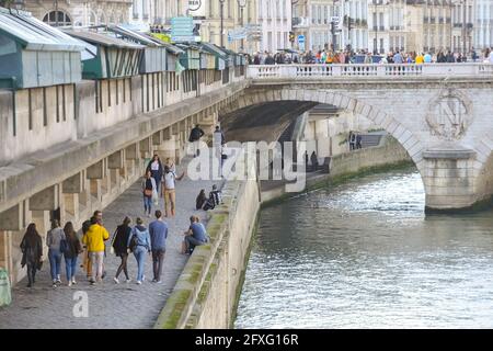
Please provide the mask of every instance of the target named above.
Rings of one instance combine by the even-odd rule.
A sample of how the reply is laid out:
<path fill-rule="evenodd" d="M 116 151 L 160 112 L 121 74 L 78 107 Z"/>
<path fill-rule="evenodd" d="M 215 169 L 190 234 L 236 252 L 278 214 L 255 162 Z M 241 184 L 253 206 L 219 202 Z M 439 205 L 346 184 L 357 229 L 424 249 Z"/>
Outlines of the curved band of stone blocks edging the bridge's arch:
<path fill-rule="evenodd" d="M 323 89 L 303 89 L 301 87 L 298 88 L 291 86 L 284 87 L 277 90 L 250 88 L 236 101 L 232 101 L 230 104 L 223 106 L 223 109 L 219 111 L 219 115 L 225 115 L 238 110 L 248 109 L 263 103 L 282 103 L 294 101 L 333 105 L 337 109 L 351 111 L 355 114 L 359 114 L 368 118 L 369 121 L 375 123 L 375 125 L 387 131 L 402 145 L 423 178 L 425 162 L 422 155 L 424 150 L 424 145 L 422 144 L 422 141 L 416 138 L 411 131 L 409 131 L 390 113 L 387 113 L 386 111 L 382 111 L 366 102 L 352 98 L 345 93 Z M 312 105 L 308 104 L 306 111 L 310 109 L 312 109 Z"/>

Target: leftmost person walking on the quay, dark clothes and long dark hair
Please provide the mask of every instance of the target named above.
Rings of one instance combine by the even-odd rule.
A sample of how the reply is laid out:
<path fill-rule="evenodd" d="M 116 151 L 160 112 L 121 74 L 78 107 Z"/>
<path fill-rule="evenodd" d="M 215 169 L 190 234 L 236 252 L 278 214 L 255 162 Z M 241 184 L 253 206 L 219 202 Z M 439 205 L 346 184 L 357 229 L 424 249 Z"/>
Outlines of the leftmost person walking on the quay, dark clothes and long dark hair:
<path fill-rule="evenodd" d="M 27 287 L 32 287 L 35 282 L 36 271 L 42 268 L 43 240 L 36 230 L 36 224 L 27 226 L 24 238 L 21 241 L 22 260 L 21 267 L 27 265 Z"/>

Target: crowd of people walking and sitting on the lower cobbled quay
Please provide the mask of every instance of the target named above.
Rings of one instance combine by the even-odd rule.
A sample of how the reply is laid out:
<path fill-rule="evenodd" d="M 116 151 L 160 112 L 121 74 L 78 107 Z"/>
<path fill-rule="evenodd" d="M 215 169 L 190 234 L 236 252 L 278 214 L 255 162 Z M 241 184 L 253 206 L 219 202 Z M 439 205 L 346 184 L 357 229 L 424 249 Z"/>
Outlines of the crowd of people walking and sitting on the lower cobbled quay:
<path fill-rule="evenodd" d="M 190 141 L 197 145 L 204 132 L 196 125 L 190 135 Z M 219 126 L 214 133 L 215 140 L 219 145 L 225 144 L 225 137 Z M 216 141 L 215 141 L 216 143 Z M 199 149 L 194 150 L 194 157 L 198 156 Z M 107 257 L 107 249 L 112 254 L 121 259 L 113 281 L 119 284 L 119 275 L 125 274 L 125 282 L 129 283 L 128 275 L 128 256 L 133 253 L 137 262 L 136 283 L 142 284 L 145 281 L 146 257 L 149 253 L 152 257 L 153 283 L 161 283 L 161 274 L 163 270 L 164 253 L 167 250 L 167 238 L 169 226 L 164 218 L 171 218 L 176 215 L 176 195 L 175 182 L 185 176 L 183 172 L 176 176 L 176 167 L 171 160 L 167 159 L 163 165 L 158 154 L 146 167 L 145 176 L 141 181 L 141 194 L 144 200 L 144 216 L 151 217 L 152 206 L 157 210 L 153 215 L 156 219 L 145 225 L 144 216 L 137 216 L 135 224 L 130 216 L 125 216 L 122 224 L 118 225 L 114 234 L 110 236 L 110 231 L 104 226 L 103 213 L 95 211 L 93 216 L 83 222 L 81 235 L 74 230 L 71 222 L 61 226 L 59 219 L 51 220 L 51 228 L 47 231 L 46 246 L 48 248 L 49 274 L 53 287 L 57 287 L 61 282 L 61 260 L 65 259 L 65 272 L 67 285 L 77 284 L 76 275 L 79 268 L 82 268 L 88 281 L 91 285 L 95 285 L 103 281 L 107 275 L 104 261 Z M 159 208 L 160 199 L 164 201 L 164 213 Z M 205 190 L 202 189 L 196 199 L 195 210 L 214 210 L 222 203 L 222 196 L 217 185 L 213 185 L 209 197 L 206 196 Z M 136 210 L 136 212 L 138 212 Z M 207 230 L 196 215 L 190 217 L 190 226 L 184 233 L 181 252 L 191 254 L 196 246 L 205 245 L 209 241 Z M 108 242 L 108 245 L 107 245 Z M 21 265 L 27 268 L 27 287 L 32 287 L 36 280 L 36 272 L 43 267 L 43 240 L 36 224 L 31 223 L 21 242 L 21 251 L 23 253 Z M 79 258 L 82 264 L 79 267 Z"/>

